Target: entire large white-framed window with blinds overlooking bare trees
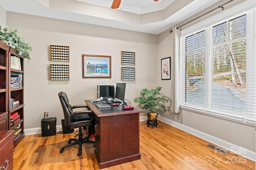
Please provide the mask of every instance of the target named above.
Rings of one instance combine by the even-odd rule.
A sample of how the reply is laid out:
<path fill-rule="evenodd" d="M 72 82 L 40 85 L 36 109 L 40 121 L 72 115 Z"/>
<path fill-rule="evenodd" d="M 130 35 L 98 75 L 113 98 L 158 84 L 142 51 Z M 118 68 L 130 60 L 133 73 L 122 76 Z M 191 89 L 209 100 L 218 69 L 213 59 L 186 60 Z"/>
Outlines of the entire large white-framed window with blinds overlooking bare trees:
<path fill-rule="evenodd" d="M 255 119 L 254 18 L 244 13 L 181 37 L 181 106 Z"/>

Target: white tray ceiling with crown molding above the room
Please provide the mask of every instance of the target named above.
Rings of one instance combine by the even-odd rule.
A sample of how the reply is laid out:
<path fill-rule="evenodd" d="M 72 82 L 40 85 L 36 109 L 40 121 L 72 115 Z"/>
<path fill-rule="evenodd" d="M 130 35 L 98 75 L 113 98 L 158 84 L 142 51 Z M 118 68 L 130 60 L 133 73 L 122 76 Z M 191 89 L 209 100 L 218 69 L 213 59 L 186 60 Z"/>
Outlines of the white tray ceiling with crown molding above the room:
<path fill-rule="evenodd" d="M 111 9 L 112 0 L 0 0 L 0 5 L 10 12 L 158 35 L 219 1 L 122 0 L 118 9 Z"/>

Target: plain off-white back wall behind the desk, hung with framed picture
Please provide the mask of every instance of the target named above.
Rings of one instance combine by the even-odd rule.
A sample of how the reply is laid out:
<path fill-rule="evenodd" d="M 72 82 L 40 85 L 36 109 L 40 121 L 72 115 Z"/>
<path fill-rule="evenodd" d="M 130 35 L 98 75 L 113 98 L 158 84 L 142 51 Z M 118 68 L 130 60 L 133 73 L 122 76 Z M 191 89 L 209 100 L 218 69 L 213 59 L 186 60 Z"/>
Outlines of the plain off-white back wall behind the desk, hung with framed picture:
<path fill-rule="evenodd" d="M 25 129 L 40 127 L 44 111 L 57 117 L 57 125 L 61 125 L 60 91 L 67 93 L 72 105 L 84 104 L 84 100 L 96 98 L 97 84 L 126 82 L 126 98 L 133 101 L 142 88 L 157 84 L 156 35 L 13 12 L 7 12 L 7 23 L 33 49 L 32 60 L 24 68 Z M 70 46 L 70 62 L 50 61 L 50 45 Z M 136 53 L 135 81 L 121 81 L 121 51 Z M 82 78 L 82 54 L 110 55 L 112 78 Z M 49 64 L 70 64 L 70 80 L 49 80 Z"/>

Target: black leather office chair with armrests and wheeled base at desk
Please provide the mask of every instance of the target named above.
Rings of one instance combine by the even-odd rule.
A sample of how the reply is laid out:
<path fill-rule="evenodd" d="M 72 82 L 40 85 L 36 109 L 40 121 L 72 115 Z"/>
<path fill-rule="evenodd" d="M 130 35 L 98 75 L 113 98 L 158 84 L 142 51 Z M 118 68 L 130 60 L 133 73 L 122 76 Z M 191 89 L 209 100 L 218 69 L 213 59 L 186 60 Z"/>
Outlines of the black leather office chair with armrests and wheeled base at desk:
<path fill-rule="evenodd" d="M 95 143 L 94 141 L 89 141 L 90 136 L 83 138 L 83 134 L 82 134 L 82 127 L 85 129 L 86 126 L 92 126 L 92 125 L 94 126 L 94 115 L 90 110 L 73 112 L 73 109 L 75 108 L 84 107 L 88 109 L 88 106 L 86 105 L 71 106 L 68 102 L 68 97 L 65 92 L 59 92 L 58 96 L 60 98 L 60 103 L 64 112 L 65 126 L 69 127 L 70 129 L 79 128 L 78 139 L 73 139 L 73 138 L 69 139 L 68 140 L 69 144 L 62 147 L 62 149 L 60 149 L 60 153 L 62 153 L 66 147 L 79 145 L 79 150 L 77 155 L 81 156 L 83 143 Z M 74 141 L 74 142 L 71 143 L 71 141 Z"/>

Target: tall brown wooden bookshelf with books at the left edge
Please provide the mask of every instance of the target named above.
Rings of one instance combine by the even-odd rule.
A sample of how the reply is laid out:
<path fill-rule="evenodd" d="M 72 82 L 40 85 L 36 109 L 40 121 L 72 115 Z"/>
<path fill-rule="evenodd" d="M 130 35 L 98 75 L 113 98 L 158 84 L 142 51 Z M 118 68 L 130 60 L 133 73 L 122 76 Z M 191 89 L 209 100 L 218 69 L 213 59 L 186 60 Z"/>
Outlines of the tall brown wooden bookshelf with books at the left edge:
<path fill-rule="evenodd" d="M 15 56 L 19 61 L 20 69 L 11 68 L 11 56 Z M 20 74 L 21 87 L 11 88 L 11 74 Z M 14 129 L 17 125 L 20 125 L 22 132 L 20 137 L 15 139 L 14 147 L 24 137 L 24 57 L 18 55 L 18 51 L 9 45 L 6 45 L 0 41 L 0 131 Z M 11 98 L 15 101 L 19 101 L 19 105 L 11 108 Z M 12 112 L 18 112 L 20 115 L 20 121 L 15 125 L 10 125 L 10 114 Z"/>

